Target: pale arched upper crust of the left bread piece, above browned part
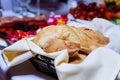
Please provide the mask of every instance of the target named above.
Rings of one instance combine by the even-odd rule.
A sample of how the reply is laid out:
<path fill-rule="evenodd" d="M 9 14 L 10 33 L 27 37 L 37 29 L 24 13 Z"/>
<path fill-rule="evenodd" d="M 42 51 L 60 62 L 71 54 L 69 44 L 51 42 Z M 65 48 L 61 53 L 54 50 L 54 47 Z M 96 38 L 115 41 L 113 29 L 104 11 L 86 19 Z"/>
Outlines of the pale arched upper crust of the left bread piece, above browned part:
<path fill-rule="evenodd" d="M 69 28 L 67 25 L 48 26 L 42 29 L 38 35 L 33 39 L 33 42 L 39 46 L 44 44 L 50 39 L 57 38 L 66 41 L 79 43 L 79 36 Z"/>

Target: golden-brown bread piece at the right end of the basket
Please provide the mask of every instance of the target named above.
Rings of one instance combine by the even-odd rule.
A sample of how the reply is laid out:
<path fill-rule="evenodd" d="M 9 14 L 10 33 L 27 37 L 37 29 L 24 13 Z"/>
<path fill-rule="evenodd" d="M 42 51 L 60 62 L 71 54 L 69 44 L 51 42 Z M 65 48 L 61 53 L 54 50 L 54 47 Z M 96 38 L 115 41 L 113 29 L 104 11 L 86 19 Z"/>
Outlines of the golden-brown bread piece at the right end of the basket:
<path fill-rule="evenodd" d="M 92 50 L 104 46 L 109 42 L 109 39 L 105 37 L 99 31 L 94 31 L 85 27 L 70 27 L 76 32 L 80 40 L 80 50 L 89 54 Z"/>

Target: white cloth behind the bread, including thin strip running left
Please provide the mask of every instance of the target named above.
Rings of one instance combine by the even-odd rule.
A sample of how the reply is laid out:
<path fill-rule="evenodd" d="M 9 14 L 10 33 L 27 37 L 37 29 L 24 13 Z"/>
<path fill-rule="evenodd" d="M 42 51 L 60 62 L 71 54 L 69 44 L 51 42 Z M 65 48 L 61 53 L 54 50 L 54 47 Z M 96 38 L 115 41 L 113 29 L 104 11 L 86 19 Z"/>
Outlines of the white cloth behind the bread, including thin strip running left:
<path fill-rule="evenodd" d="M 92 21 L 76 20 L 70 21 L 68 25 L 76 27 L 87 27 L 93 30 L 98 30 L 106 37 L 109 37 L 109 44 L 106 46 L 117 53 L 120 53 L 120 25 L 116 25 L 111 21 L 102 18 L 94 18 Z"/>

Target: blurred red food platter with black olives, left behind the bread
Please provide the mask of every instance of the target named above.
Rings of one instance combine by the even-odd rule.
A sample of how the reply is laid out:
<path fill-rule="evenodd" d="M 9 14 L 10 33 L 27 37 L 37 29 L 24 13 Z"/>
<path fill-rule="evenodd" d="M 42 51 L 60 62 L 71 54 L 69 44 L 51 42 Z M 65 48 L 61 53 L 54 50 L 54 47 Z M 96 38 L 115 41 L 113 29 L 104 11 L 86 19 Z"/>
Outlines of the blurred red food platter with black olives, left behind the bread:
<path fill-rule="evenodd" d="M 26 18 L 25 18 L 26 19 Z M 48 25 L 58 25 L 67 23 L 67 15 L 51 16 L 48 20 L 20 20 L 4 23 L 0 26 L 0 32 L 5 32 L 6 38 L 11 42 L 36 35 L 37 29 L 42 29 Z"/>

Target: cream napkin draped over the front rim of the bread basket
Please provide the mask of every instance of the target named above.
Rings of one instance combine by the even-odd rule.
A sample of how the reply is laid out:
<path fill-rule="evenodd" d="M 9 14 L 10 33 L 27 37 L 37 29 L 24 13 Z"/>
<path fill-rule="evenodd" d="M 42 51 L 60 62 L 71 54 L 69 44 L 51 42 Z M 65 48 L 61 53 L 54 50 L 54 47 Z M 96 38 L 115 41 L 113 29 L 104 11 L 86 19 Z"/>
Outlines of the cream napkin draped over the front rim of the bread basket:
<path fill-rule="evenodd" d="M 20 40 L 3 50 L 8 66 L 20 64 L 35 54 L 55 59 L 59 80 L 114 80 L 120 70 L 120 55 L 104 47 L 92 51 L 80 64 L 68 63 L 67 50 L 47 54 L 29 39 Z"/>

